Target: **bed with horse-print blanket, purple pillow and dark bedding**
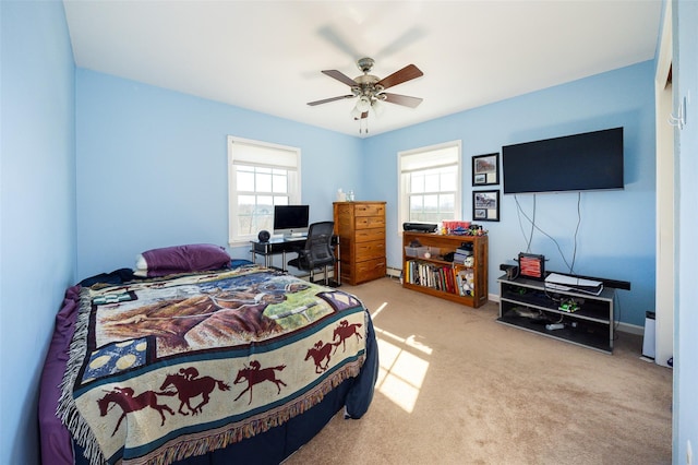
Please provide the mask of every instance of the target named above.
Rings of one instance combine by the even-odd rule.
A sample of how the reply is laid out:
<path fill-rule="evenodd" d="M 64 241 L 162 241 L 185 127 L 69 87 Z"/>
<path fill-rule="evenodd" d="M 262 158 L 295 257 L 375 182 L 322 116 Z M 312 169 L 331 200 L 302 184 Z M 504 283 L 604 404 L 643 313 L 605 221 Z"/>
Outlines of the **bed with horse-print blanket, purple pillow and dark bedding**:
<path fill-rule="evenodd" d="M 377 347 L 356 296 L 210 245 L 139 259 L 65 293 L 41 375 L 45 463 L 278 464 L 341 409 L 365 414 Z"/>

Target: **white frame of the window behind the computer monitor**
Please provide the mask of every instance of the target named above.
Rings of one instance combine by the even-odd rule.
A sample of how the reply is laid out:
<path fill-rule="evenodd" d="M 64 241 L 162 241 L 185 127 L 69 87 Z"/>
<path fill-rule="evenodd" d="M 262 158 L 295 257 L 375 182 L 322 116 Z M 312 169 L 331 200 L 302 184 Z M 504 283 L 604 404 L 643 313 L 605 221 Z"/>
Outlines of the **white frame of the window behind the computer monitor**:
<path fill-rule="evenodd" d="M 288 204 L 301 204 L 301 150 L 288 145 L 274 144 L 264 141 L 237 138 L 228 135 L 228 245 L 240 247 L 256 240 L 258 231 L 241 234 L 238 230 L 238 196 L 251 194 L 279 195 L 279 193 L 253 191 L 239 191 L 237 187 L 237 166 L 255 168 L 275 168 L 286 170 L 288 174 Z M 244 151 L 249 147 L 249 151 Z M 240 151 L 243 148 L 243 151 Z M 254 152 L 267 152 L 268 157 L 260 160 Z M 275 154 L 276 152 L 276 154 Z M 276 162 L 276 163 L 275 163 Z M 284 194 L 282 194 L 284 195 Z M 273 231 L 269 231 L 273 233 Z"/>

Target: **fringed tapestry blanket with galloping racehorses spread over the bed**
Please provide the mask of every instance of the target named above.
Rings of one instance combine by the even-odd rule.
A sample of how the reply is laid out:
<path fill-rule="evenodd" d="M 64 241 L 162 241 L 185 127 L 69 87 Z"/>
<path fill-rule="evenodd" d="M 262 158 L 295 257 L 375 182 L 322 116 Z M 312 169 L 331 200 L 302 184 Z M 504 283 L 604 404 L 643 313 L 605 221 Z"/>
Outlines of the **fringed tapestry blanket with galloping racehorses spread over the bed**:
<path fill-rule="evenodd" d="M 226 448 L 357 377 L 368 319 L 349 294 L 256 265 L 82 288 L 59 416 L 92 463 Z"/>

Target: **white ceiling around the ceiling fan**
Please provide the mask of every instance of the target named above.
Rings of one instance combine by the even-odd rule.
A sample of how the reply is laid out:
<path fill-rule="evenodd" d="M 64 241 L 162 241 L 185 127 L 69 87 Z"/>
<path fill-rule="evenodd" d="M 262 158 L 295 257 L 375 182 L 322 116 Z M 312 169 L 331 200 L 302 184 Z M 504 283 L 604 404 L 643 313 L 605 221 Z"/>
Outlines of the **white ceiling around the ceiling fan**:
<path fill-rule="evenodd" d="M 310 107 L 378 78 L 424 75 L 389 92 L 369 135 L 654 58 L 661 0 L 64 0 L 77 67 L 359 134 L 354 102 Z M 364 134 L 365 136 L 365 134 Z"/>

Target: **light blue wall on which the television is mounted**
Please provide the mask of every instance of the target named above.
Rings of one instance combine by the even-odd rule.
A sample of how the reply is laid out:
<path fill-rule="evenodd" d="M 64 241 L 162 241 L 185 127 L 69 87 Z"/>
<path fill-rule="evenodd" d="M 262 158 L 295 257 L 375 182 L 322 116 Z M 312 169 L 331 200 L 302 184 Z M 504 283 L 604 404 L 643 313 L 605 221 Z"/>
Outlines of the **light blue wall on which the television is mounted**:
<path fill-rule="evenodd" d="M 653 62 L 647 61 L 369 139 L 364 164 L 370 163 L 373 169 L 366 170 L 364 186 L 371 187 L 369 195 L 388 202 L 388 265 L 401 267 L 396 176 L 399 151 L 461 140 L 464 219 L 472 219 L 473 155 L 501 152 L 503 145 L 512 143 L 622 126 L 625 190 L 581 194 L 574 271 L 629 281 L 631 291 L 618 291 L 621 320 L 642 325 L 645 312 L 654 306 L 653 76 Z M 568 272 L 562 257 L 571 263 L 577 199 L 576 193 L 535 196 L 535 224 L 562 250 L 561 254 L 553 240 L 534 231 L 530 251 L 545 255 L 547 270 Z M 518 195 L 518 201 L 531 217 L 533 195 Z M 500 216 L 500 222 L 481 223 L 490 233 L 491 294 L 498 294 L 500 264 L 513 263 L 518 252 L 527 249 L 528 236 L 519 226 L 514 195 L 502 195 Z M 530 224 L 521 220 L 528 231 Z"/>

